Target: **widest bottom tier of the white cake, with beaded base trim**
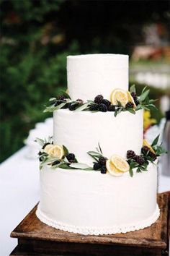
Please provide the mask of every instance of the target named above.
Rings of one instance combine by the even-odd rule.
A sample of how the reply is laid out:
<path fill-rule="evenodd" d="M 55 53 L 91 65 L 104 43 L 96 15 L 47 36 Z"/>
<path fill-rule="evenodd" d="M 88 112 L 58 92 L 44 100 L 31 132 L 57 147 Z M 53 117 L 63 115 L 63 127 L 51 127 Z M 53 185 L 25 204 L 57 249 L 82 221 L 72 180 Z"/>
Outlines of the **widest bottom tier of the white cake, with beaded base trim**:
<path fill-rule="evenodd" d="M 157 170 L 130 177 L 99 171 L 40 171 L 37 217 L 56 229 L 80 234 L 116 234 L 151 226 L 159 216 Z"/>

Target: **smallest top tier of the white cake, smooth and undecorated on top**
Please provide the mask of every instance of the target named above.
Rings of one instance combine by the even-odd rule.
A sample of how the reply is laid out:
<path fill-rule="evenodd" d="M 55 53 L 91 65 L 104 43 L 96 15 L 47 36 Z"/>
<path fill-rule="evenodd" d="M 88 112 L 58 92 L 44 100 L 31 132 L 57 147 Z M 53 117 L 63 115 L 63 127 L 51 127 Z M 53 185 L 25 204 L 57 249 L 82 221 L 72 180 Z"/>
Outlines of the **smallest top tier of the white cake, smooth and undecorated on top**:
<path fill-rule="evenodd" d="M 112 90 L 128 90 L 128 55 L 87 54 L 67 57 L 67 82 L 71 99 L 93 99 Z"/>

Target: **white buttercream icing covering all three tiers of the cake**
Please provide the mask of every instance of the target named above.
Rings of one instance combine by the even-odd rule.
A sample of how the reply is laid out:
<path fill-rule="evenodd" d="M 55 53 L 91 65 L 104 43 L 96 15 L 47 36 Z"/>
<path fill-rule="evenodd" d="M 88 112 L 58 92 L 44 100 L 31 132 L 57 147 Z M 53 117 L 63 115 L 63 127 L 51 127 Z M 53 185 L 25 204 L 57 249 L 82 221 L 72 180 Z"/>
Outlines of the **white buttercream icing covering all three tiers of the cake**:
<path fill-rule="evenodd" d="M 128 90 L 128 56 L 68 56 L 67 74 L 72 100 L 93 100 L 99 94 L 109 99 L 116 88 Z M 98 143 L 107 158 L 116 154 L 126 160 L 128 150 L 140 155 L 143 110 L 135 114 L 123 111 L 115 117 L 109 111 L 59 109 L 54 111 L 53 119 L 53 150 L 64 145 L 79 163 L 93 166 L 94 160 L 87 152 L 96 151 Z M 46 147 L 49 150 L 50 146 Z M 113 163 L 112 166 L 115 168 Z M 159 216 L 156 164 L 150 163 L 148 171 L 141 173 L 133 169 L 133 177 L 128 170 L 122 176 L 112 176 L 109 168 L 107 174 L 101 174 L 52 167 L 45 165 L 40 171 L 40 203 L 36 214 L 56 229 L 96 235 L 125 233 L 151 226 Z"/>

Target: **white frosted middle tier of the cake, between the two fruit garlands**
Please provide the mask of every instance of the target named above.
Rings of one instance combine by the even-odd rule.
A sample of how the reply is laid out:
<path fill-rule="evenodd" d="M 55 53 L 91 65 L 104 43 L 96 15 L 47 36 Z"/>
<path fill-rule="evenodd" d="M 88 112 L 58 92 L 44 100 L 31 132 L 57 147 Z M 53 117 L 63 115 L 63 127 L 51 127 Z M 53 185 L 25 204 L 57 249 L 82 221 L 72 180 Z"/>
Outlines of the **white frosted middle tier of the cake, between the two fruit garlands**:
<path fill-rule="evenodd" d="M 143 111 L 133 115 L 128 111 L 114 116 L 114 112 L 73 112 L 66 109 L 54 111 L 53 140 L 65 145 L 81 163 L 92 163 L 86 153 L 96 150 L 98 143 L 103 154 L 126 157 L 128 150 L 140 154 L 143 145 Z"/>

